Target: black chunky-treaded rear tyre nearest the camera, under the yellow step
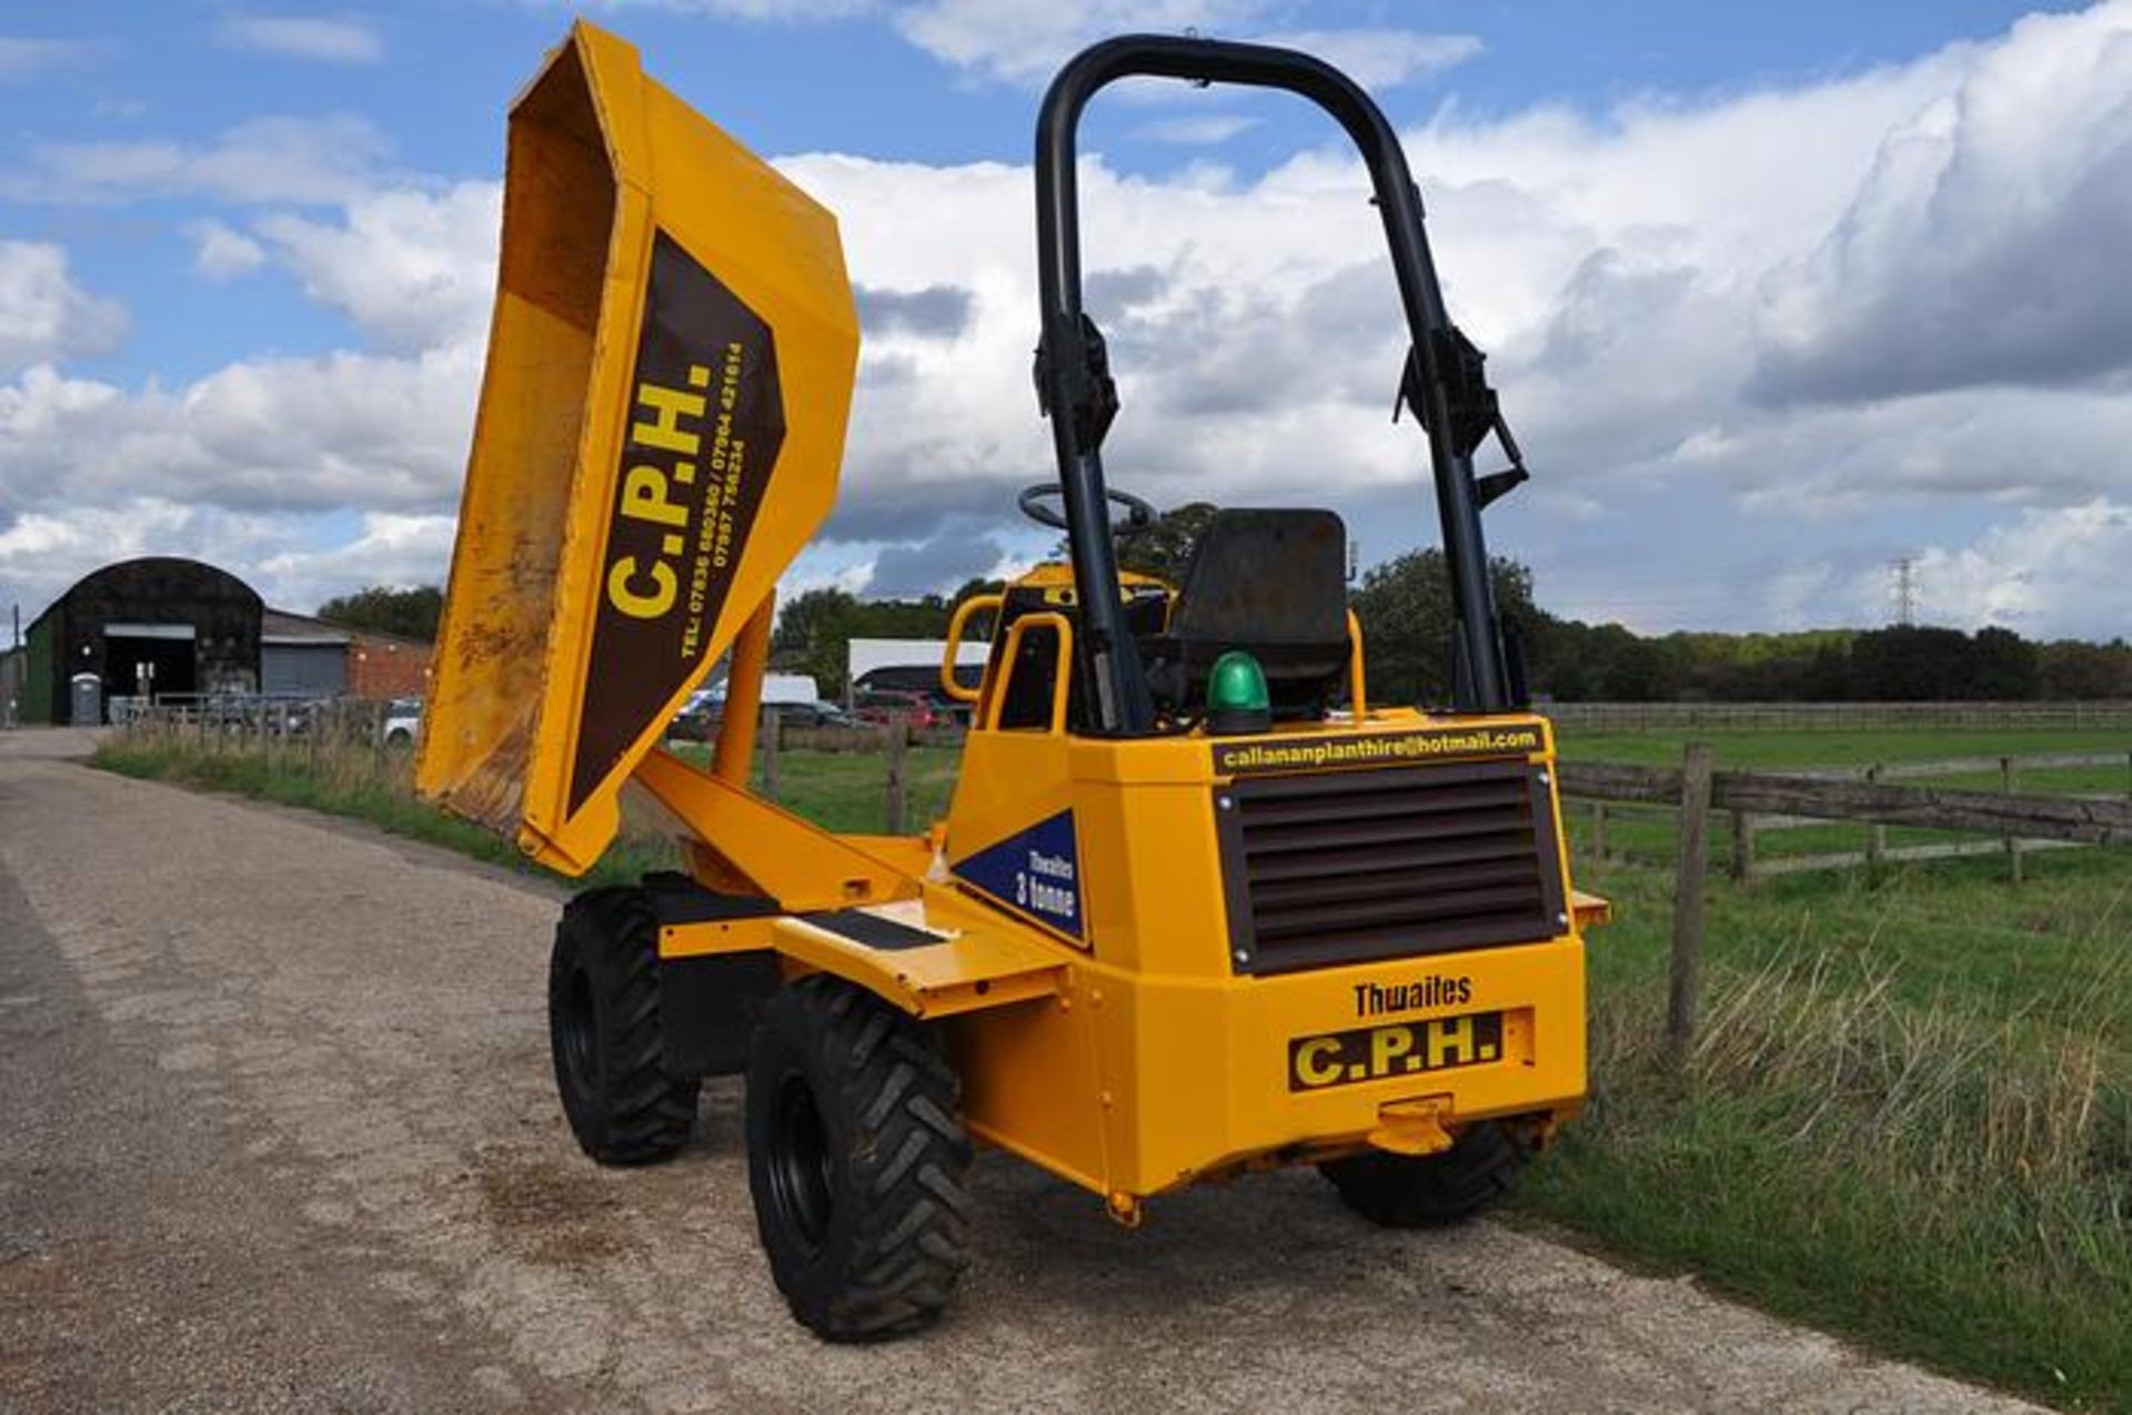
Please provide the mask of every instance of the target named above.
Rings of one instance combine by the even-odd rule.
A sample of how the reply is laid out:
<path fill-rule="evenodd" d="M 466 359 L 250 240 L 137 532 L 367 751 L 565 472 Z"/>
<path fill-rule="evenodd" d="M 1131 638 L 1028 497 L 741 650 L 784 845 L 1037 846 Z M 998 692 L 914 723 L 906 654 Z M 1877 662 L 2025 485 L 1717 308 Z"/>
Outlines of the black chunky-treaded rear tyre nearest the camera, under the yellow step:
<path fill-rule="evenodd" d="M 770 1178 L 774 1106 L 795 1072 L 831 1155 L 819 1247 L 789 1227 Z M 748 1187 L 772 1276 L 817 1336 L 906 1336 L 953 1300 L 970 1266 L 959 1106 L 938 1036 L 872 993 L 812 974 L 770 999 L 748 1059 Z"/>

